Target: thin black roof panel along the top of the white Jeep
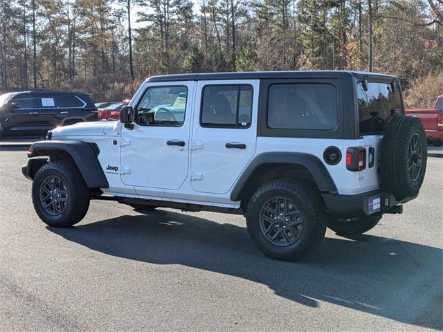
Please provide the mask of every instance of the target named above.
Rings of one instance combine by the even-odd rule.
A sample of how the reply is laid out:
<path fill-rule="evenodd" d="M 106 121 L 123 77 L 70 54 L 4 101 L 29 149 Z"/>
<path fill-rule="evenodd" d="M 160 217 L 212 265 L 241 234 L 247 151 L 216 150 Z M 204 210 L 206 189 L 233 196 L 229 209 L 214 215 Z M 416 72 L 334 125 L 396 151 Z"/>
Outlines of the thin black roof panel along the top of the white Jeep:
<path fill-rule="evenodd" d="M 342 78 L 352 75 L 357 79 L 365 76 L 385 79 L 398 78 L 393 75 L 369 73 L 364 71 L 248 71 L 241 73 L 193 73 L 159 75 L 147 78 L 146 82 L 173 82 L 173 81 L 199 81 L 199 80 L 266 80 L 266 79 L 291 79 L 291 78 Z"/>

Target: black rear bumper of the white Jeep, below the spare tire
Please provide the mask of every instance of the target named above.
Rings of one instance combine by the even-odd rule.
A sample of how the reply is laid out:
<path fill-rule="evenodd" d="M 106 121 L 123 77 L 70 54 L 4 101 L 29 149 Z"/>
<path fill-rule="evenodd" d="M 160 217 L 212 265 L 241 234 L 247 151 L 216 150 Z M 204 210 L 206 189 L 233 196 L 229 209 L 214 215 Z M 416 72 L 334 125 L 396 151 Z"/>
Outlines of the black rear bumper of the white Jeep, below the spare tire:
<path fill-rule="evenodd" d="M 339 219 L 350 219 L 370 214 L 401 213 L 401 204 L 417 197 L 413 196 L 397 201 L 394 195 L 381 190 L 356 195 L 322 194 L 322 196 L 329 213 Z M 378 199 L 380 200 L 377 201 Z M 372 204 L 374 200 L 379 202 L 375 209 Z"/>

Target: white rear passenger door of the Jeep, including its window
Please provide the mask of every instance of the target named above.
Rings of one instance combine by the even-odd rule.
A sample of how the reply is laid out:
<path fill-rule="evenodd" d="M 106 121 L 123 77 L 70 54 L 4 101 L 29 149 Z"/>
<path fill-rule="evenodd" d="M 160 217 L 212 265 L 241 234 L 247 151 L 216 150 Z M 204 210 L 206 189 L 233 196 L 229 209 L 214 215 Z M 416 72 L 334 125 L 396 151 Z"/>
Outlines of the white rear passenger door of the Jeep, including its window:
<path fill-rule="evenodd" d="M 191 145 L 195 191 L 228 193 L 253 158 L 258 89 L 258 80 L 198 82 Z"/>

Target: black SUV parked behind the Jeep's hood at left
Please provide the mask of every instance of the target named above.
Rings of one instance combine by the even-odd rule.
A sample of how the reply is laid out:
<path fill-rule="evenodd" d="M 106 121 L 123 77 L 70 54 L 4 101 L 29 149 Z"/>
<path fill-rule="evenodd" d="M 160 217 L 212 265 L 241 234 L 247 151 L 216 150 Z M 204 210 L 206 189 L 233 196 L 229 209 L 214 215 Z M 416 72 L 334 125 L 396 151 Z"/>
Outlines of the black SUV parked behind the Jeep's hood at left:
<path fill-rule="evenodd" d="M 97 120 L 86 93 L 26 91 L 0 95 L 0 138 L 39 136 L 57 126 Z"/>

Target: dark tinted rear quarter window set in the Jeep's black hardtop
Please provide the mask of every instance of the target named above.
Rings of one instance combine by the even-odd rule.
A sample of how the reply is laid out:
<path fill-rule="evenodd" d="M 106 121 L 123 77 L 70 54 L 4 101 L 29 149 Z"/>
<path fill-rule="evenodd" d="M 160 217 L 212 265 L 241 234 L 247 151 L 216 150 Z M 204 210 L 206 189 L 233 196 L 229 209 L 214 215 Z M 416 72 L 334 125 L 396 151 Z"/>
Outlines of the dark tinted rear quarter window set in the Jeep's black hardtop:
<path fill-rule="evenodd" d="M 337 93 L 332 84 L 273 84 L 268 126 L 275 129 L 335 129 Z"/>

